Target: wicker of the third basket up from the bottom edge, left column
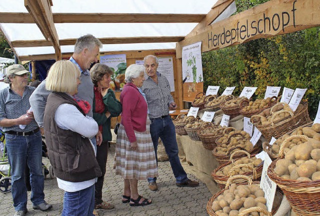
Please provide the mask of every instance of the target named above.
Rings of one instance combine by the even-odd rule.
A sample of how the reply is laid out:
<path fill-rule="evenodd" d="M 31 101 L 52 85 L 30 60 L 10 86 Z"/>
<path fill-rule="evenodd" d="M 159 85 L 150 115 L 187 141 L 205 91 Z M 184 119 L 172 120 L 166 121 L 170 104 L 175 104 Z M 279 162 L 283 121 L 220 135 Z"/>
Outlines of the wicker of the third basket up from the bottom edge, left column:
<path fill-rule="evenodd" d="M 240 133 L 234 133 L 232 135 L 238 135 Z M 231 138 L 232 136 L 230 136 Z M 244 151 L 247 151 L 249 154 L 257 154 L 259 153 L 261 150 L 262 150 L 262 143 L 261 143 L 261 140 L 258 140 L 257 143 L 253 146 L 253 148 L 251 148 L 250 150 L 246 150 L 245 148 L 241 147 L 241 146 L 234 146 L 234 147 L 231 147 L 227 152 L 226 154 L 219 154 L 217 153 L 217 147 L 216 146 L 213 150 L 212 150 L 212 154 L 213 156 L 215 156 L 215 159 L 219 162 L 219 164 L 223 164 L 223 163 L 226 163 L 229 161 L 229 158 L 230 158 L 230 153 L 231 151 L 235 150 L 235 149 L 240 149 L 240 150 L 244 150 Z M 243 153 L 236 153 L 234 154 L 233 158 L 234 159 L 237 159 L 237 158 L 240 158 L 243 156 Z"/>

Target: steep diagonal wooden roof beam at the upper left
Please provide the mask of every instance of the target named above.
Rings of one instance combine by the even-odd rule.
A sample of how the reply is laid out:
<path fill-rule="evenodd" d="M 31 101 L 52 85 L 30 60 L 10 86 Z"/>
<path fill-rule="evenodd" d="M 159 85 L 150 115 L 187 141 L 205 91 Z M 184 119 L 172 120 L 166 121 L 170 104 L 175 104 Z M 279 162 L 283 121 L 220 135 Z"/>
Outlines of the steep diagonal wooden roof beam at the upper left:
<path fill-rule="evenodd" d="M 46 40 L 51 41 L 56 60 L 61 59 L 59 38 L 54 26 L 50 2 L 47 0 L 24 0 L 24 5 Z"/>

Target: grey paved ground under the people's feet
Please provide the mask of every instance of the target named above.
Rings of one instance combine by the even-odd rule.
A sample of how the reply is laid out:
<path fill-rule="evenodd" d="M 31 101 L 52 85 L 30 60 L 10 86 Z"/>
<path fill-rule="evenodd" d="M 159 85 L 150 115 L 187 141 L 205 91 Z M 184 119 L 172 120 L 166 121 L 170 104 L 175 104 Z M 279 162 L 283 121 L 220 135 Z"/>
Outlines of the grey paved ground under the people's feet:
<path fill-rule="evenodd" d="M 206 203 L 211 193 L 204 183 L 200 182 L 198 187 L 177 187 L 170 164 L 168 161 L 158 163 L 159 178 L 157 180 L 159 189 L 150 191 L 147 181 L 139 181 L 139 194 L 152 199 L 152 204 L 147 206 L 131 207 L 121 202 L 123 181 L 121 176 L 115 175 L 113 167 L 114 144 L 111 144 L 108 154 L 107 169 L 104 178 L 103 199 L 115 205 L 111 210 L 98 210 L 99 215 L 207 215 Z M 49 165 L 47 159 L 43 162 Z M 197 180 L 193 175 L 188 174 L 192 180 Z M 53 207 L 50 211 L 42 212 L 32 209 L 30 192 L 28 192 L 28 213 L 31 215 L 60 215 L 62 210 L 63 190 L 57 187 L 54 179 L 44 180 L 45 200 Z M 13 215 L 11 193 L 0 193 L 0 215 Z"/>

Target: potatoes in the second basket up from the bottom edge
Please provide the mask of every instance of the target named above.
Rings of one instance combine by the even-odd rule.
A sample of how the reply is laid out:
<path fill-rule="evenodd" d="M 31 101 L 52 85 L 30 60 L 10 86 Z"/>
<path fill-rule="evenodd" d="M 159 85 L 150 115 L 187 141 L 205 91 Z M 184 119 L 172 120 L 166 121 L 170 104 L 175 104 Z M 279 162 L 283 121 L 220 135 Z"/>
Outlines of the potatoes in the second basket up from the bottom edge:
<path fill-rule="evenodd" d="M 262 160 L 260 158 L 256 158 L 256 157 L 251 157 L 251 158 L 247 158 L 247 157 L 242 157 L 236 161 L 234 161 L 234 163 L 230 163 L 226 166 L 224 166 L 221 170 L 218 170 L 217 172 L 215 172 L 216 175 L 224 175 L 224 176 L 230 176 L 230 175 L 237 175 L 237 174 L 243 174 L 245 172 L 251 171 L 250 168 L 248 167 L 238 167 L 237 165 L 239 164 L 247 164 L 253 168 L 258 167 L 260 164 L 262 163 Z M 230 172 L 231 171 L 231 172 Z"/>

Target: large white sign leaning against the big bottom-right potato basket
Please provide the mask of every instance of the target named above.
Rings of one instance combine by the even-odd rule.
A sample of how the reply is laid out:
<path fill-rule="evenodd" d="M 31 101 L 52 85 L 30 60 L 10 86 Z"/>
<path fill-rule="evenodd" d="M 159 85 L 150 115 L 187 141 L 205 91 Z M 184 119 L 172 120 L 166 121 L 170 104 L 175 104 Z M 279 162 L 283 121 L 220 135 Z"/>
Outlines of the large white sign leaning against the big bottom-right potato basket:
<path fill-rule="evenodd" d="M 260 188 L 263 190 L 264 198 L 266 199 L 266 207 L 267 207 L 267 210 L 270 212 L 272 209 L 275 189 L 276 189 L 276 183 L 274 183 L 266 174 L 268 166 L 271 164 L 271 162 L 272 160 L 270 159 L 269 155 L 266 154 L 264 156 L 264 163 L 263 163 L 262 175 L 261 175 L 261 181 L 260 181 Z"/>

